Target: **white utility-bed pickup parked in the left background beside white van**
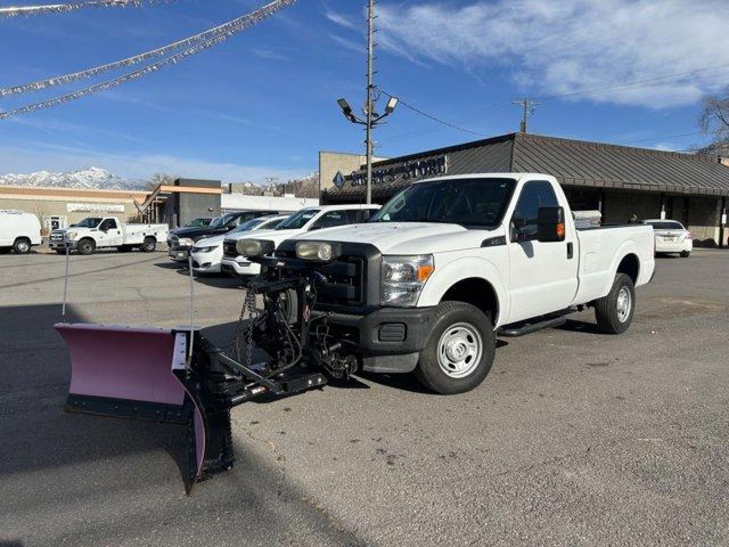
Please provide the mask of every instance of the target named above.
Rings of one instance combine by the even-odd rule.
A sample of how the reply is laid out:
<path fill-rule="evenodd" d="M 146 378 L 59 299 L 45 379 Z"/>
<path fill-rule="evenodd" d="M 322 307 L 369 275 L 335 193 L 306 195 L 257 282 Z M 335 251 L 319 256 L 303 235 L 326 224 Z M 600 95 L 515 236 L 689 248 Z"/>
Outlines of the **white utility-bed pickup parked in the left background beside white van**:
<path fill-rule="evenodd" d="M 122 224 L 116 217 L 87 217 L 64 230 L 53 230 L 49 245 L 61 254 L 66 253 L 66 247 L 81 255 L 108 247 L 152 252 L 159 241 L 167 239 L 167 233 L 166 224 Z"/>

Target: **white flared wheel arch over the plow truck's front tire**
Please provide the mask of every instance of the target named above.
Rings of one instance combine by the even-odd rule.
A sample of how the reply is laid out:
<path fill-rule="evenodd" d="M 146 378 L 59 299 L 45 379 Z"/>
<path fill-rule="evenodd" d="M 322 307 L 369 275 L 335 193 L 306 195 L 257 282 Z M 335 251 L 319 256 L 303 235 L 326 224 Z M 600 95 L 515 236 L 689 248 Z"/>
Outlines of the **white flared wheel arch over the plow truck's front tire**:
<path fill-rule="evenodd" d="M 435 271 L 423 287 L 418 307 L 437 306 L 448 295 L 459 295 L 457 300 L 472 303 L 481 309 L 494 305 L 494 328 L 502 325 L 502 318 L 509 317 L 510 300 L 501 282 L 496 265 L 477 257 L 464 257 L 445 265 L 436 258 Z M 446 300 L 450 299 L 448 296 Z M 484 310 L 487 311 L 487 310 Z"/>

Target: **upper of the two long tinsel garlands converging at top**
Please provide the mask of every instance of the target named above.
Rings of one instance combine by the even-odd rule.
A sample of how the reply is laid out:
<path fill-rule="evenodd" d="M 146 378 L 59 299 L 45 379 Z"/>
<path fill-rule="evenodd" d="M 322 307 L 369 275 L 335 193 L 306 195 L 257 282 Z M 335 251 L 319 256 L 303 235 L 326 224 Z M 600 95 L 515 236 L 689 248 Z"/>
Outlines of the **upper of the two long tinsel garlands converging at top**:
<path fill-rule="evenodd" d="M 182 40 L 178 40 L 177 42 L 172 42 L 171 44 L 167 44 L 163 47 L 157 47 L 157 49 L 155 50 L 150 50 L 144 53 L 139 53 L 139 55 L 133 55 L 132 57 L 121 59 L 120 61 L 106 63 L 101 66 L 95 66 L 93 69 L 86 69 L 78 72 L 72 72 L 71 74 L 64 74 L 63 76 L 42 79 L 37 82 L 31 82 L 24 85 L 16 85 L 12 88 L 0 89 L 0 97 L 17 95 L 18 93 L 28 93 L 29 91 L 38 91 L 46 88 L 52 88 L 56 85 L 76 82 L 79 79 L 97 76 L 98 74 L 103 74 L 104 72 L 108 72 L 110 70 L 132 66 L 143 61 L 147 61 L 147 59 L 149 58 L 164 57 L 165 55 L 173 53 L 176 50 L 181 50 L 185 47 L 192 47 L 197 42 L 206 42 L 219 35 L 225 36 L 225 39 L 227 39 L 230 36 L 233 36 L 233 34 L 236 34 L 246 28 L 254 26 L 256 23 L 260 23 L 260 21 L 270 17 L 271 15 L 278 12 L 280 9 L 294 4 L 295 1 L 296 0 L 276 0 L 270 2 L 270 4 L 266 4 L 265 6 L 256 9 L 254 12 L 251 12 L 247 15 L 241 15 L 241 17 L 230 20 L 227 23 L 223 23 L 222 25 L 209 28 L 207 31 L 203 31 L 199 34 L 195 34 Z"/>

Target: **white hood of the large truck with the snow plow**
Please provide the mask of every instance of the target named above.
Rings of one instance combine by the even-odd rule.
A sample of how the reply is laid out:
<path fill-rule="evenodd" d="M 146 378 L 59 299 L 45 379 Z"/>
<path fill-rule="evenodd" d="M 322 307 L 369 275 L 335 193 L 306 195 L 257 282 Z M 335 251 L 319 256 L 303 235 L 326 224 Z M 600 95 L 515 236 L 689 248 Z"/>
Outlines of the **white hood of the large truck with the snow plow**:
<path fill-rule="evenodd" d="M 367 222 L 307 233 L 297 239 L 373 244 L 383 255 L 423 255 L 480 247 L 494 229 L 436 222 Z"/>

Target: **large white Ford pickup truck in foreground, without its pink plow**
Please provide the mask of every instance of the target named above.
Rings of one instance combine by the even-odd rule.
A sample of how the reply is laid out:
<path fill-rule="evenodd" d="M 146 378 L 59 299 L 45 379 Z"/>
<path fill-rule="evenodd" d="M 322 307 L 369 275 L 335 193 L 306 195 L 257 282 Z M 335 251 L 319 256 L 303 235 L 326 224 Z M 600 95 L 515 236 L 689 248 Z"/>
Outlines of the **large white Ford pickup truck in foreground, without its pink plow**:
<path fill-rule="evenodd" d="M 327 312 L 338 352 L 458 393 L 486 378 L 496 335 L 553 327 L 588 306 L 601 330 L 623 333 L 635 287 L 652 278 L 653 246 L 650 226 L 575 228 L 553 176 L 497 173 L 417 182 L 365 224 L 282 242 L 275 260 L 315 264 L 313 310 Z M 258 248 L 276 246 L 262 238 Z"/>

